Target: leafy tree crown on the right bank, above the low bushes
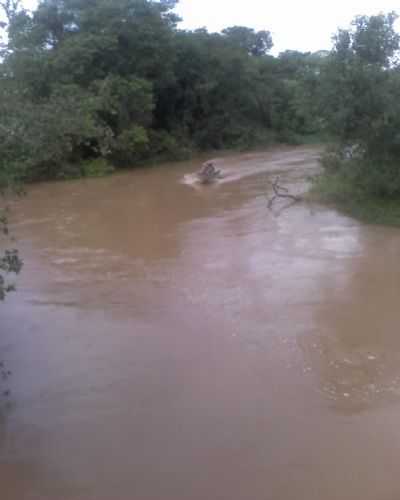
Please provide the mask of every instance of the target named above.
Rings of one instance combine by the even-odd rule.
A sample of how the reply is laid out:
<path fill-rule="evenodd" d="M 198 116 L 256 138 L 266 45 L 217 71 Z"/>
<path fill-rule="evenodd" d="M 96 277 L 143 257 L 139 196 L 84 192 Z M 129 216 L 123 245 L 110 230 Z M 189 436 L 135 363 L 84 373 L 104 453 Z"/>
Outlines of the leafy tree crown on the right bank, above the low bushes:
<path fill-rule="evenodd" d="M 379 142 L 396 101 L 391 83 L 400 40 L 395 19 L 393 13 L 357 17 L 352 30 L 340 30 L 334 37 L 322 73 L 328 128 L 343 144 L 362 144 L 369 155 L 381 151 Z"/>

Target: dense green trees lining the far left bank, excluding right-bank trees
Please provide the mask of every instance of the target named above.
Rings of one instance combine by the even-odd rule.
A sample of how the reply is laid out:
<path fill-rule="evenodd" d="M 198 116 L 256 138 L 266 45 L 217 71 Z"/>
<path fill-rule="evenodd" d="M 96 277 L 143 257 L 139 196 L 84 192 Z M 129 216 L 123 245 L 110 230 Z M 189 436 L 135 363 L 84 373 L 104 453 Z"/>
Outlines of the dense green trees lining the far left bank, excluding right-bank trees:
<path fill-rule="evenodd" d="M 1 3 L 0 172 L 79 176 L 99 159 L 132 166 L 313 129 L 311 87 L 292 81 L 307 87 L 312 74 L 269 56 L 268 31 L 182 31 L 175 0 Z"/>

